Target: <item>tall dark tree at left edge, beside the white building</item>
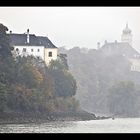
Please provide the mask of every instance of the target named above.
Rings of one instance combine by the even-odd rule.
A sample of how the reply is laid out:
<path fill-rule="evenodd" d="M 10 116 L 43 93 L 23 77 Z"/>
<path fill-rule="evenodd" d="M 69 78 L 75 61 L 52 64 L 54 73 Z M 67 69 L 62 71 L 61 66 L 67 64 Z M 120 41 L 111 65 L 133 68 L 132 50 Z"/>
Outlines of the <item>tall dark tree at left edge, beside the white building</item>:
<path fill-rule="evenodd" d="M 10 38 L 6 31 L 8 28 L 0 24 L 0 76 L 3 75 L 5 81 L 13 82 L 14 59 L 11 53 Z"/>

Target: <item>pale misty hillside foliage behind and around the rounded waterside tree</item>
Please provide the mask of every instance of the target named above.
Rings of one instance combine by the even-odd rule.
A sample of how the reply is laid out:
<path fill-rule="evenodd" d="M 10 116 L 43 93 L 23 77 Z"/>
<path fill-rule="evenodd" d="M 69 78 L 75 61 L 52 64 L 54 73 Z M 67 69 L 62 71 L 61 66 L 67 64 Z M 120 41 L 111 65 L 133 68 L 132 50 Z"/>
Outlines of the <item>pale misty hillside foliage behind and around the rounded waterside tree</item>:
<path fill-rule="evenodd" d="M 108 89 L 120 81 L 133 81 L 135 89 L 140 85 L 140 72 L 130 71 L 129 60 L 118 54 L 106 55 L 96 49 L 83 50 L 59 48 L 60 53 L 68 57 L 69 71 L 77 82 L 76 99 L 87 111 L 110 115 L 108 106 Z M 140 108 L 140 92 L 135 97 L 137 110 Z M 140 112 L 140 111 L 139 111 Z"/>

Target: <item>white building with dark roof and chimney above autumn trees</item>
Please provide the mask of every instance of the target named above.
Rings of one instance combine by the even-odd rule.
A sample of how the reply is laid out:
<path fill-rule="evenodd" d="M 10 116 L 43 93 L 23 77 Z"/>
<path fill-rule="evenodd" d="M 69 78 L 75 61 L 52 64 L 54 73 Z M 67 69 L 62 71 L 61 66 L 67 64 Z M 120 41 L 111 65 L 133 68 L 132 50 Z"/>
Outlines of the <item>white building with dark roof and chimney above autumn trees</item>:
<path fill-rule="evenodd" d="M 29 34 L 29 29 L 25 34 L 15 34 L 10 32 L 11 45 L 17 55 L 32 55 L 41 58 L 49 65 L 51 60 L 57 59 L 58 48 L 48 39 L 48 37 Z"/>

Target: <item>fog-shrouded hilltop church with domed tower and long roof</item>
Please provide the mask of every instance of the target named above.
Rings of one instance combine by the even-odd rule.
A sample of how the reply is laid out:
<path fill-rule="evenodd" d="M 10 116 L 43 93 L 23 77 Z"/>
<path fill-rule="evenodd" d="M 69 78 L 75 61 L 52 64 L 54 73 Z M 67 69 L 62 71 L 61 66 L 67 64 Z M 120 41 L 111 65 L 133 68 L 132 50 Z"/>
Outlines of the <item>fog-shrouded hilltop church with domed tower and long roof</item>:
<path fill-rule="evenodd" d="M 140 72 L 140 53 L 132 47 L 132 31 L 126 24 L 125 29 L 121 35 L 121 42 L 107 42 L 100 47 L 100 43 L 97 43 L 98 50 L 104 53 L 106 56 L 110 55 L 122 55 L 131 62 L 131 71 Z"/>

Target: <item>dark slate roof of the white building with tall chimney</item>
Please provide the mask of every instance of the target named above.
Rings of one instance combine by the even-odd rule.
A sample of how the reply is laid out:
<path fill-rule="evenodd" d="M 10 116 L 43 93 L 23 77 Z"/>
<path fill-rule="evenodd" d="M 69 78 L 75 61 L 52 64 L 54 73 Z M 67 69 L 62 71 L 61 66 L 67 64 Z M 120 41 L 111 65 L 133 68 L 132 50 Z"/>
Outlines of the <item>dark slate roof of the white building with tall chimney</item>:
<path fill-rule="evenodd" d="M 8 34 L 10 36 L 11 45 L 13 46 L 45 46 L 46 48 L 57 48 L 48 37 L 36 36 L 30 34 L 30 41 L 27 43 L 27 34 Z"/>

